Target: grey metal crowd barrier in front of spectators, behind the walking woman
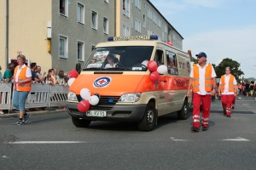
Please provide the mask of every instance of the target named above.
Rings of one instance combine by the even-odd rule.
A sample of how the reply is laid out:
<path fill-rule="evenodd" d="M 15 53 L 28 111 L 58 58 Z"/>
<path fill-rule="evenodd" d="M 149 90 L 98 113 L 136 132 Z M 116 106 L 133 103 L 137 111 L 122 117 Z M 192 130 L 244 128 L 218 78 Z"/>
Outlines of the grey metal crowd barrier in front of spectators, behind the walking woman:
<path fill-rule="evenodd" d="M 25 108 L 55 107 L 67 104 L 68 86 L 32 83 L 32 90 L 26 98 Z M 0 110 L 12 111 L 12 83 L 0 82 Z"/>

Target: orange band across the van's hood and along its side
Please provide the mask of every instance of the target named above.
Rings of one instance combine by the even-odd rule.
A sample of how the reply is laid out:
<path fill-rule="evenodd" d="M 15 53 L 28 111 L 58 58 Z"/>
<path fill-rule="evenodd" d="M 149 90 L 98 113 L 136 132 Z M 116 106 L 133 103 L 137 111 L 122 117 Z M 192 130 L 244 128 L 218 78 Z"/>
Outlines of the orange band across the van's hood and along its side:
<path fill-rule="evenodd" d="M 106 78 L 99 79 L 100 77 L 109 78 L 109 83 Z M 79 75 L 69 91 L 80 94 L 82 88 L 88 88 L 91 95 L 97 93 L 102 96 L 121 96 L 136 92 L 186 90 L 188 84 L 189 78 L 184 77 L 160 76 L 158 82 L 152 82 L 150 75 L 89 74 Z"/>

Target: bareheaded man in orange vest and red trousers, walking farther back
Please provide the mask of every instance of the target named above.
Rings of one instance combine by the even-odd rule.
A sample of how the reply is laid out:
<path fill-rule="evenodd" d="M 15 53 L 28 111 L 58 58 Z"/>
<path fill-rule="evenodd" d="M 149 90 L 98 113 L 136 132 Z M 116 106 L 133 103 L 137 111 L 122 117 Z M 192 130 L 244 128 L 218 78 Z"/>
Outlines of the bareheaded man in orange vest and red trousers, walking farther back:
<path fill-rule="evenodd" d="M 221 93 L 221 103 L 224 115 L 231 116 L 231 108 L 237 94 L 236 78 L 230 74 L 230 67 L 226 67 L 225 74 L 220 78 L 218 93 Z"/>

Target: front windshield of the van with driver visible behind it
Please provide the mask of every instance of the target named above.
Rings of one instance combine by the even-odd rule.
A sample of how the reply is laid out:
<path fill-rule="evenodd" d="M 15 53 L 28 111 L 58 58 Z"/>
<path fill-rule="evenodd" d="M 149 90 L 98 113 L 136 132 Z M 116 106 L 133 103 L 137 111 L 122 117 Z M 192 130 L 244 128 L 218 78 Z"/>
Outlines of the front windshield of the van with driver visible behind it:
<path fill-rule="evenodd" d="M 83 70 L 147 71 L 145 63 L 150 59 L 153 48 L 153 46 L 96 48 Z"/>

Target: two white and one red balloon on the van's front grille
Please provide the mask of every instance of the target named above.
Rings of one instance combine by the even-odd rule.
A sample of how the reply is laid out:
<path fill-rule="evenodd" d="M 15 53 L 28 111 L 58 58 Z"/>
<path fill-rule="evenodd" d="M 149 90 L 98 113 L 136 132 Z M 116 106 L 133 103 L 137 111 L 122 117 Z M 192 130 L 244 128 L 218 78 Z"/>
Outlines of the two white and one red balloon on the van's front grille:
<path fill-rule="evenodd" d="M 100 101 L 99 97 L 94 94 L 90 95 L 90 90 L 88 88 L 82 88 L 80 90 L 81 101 L 78 105 L 78 110 L 80 112 L 86 112 L 90 109 L 90 105 L 97 105 Z"/>

